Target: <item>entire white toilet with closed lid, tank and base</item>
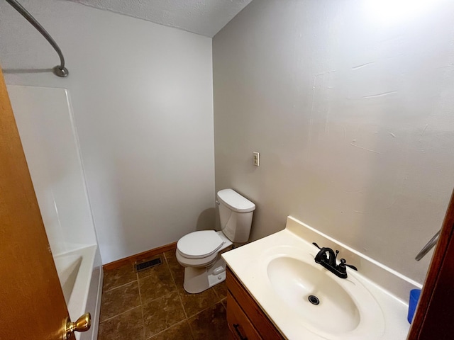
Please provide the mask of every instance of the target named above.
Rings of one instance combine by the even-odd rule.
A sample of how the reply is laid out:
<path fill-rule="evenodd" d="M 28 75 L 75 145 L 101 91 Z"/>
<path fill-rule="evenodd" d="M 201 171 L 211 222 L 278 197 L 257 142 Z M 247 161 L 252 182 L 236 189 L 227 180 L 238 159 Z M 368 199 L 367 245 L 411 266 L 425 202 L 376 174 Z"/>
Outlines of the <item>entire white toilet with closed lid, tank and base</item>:
<path fill-rule="evenodd" d="M 248 242 L 255 204 L 232 189 L 218 191 L 221 231 L 201 230 L 177 242 L 177 261 L 184 266 L 184 290 L 201 293 L 226 280 L 226 262 L 221 253 L 233 242 Z"/>

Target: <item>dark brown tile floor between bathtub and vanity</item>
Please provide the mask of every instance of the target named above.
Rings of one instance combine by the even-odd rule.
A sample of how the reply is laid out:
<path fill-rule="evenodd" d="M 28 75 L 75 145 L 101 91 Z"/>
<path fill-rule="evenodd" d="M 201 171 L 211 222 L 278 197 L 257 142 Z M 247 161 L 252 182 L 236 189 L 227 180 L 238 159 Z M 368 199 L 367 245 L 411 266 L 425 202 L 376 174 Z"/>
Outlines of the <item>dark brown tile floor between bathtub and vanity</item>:
<path fill-rule="evenodd" d="M 227 339 L 226 283 L 199 294 L 183 288 L 175 251 L 160 266 L 104 271 L 98 340 Z"/>

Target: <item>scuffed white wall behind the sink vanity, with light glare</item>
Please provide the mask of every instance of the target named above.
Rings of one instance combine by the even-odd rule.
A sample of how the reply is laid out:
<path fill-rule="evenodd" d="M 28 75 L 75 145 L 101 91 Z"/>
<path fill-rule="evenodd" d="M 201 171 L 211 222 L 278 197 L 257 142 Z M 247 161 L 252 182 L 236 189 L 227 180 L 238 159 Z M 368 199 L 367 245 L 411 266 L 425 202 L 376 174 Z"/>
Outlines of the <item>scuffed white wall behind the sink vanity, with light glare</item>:
<path fill-rule="evenodd" d="M 251 239 L 292 215 L 422 282 L 454 186 L 454 2 L 403 3 L 253 1 L 214 37 L 216 190 L 256 203 Z"/>

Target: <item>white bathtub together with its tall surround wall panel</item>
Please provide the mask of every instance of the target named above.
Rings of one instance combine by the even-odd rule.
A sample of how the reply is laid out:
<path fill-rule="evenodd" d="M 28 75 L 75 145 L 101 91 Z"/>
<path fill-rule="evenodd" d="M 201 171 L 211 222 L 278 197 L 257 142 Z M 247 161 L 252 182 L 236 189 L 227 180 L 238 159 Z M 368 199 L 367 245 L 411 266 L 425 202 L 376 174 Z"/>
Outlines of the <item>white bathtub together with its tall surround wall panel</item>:
<path fill-rule="evenodd" d="M 96 340 L 102 271 L 79 142 L 66 89 L 8 86 L 28 169 L 72 321 L 92 314 Z"/>

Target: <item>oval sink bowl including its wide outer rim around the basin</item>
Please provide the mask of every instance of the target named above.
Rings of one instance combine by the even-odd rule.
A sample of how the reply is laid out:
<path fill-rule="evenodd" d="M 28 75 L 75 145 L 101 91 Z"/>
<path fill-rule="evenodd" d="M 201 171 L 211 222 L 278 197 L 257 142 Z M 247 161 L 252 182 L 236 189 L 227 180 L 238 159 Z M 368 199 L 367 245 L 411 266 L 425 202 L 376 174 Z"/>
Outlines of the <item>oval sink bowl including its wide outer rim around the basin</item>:
<path fill-rule="evenodd" d="M 338 278 L 315 263 L 318 249 L 301 250 L 273 246 L 263 253 L 262 273 L 282 309 L 321 339 L 380 339 L 382 310 L 355 274 Z"/>

